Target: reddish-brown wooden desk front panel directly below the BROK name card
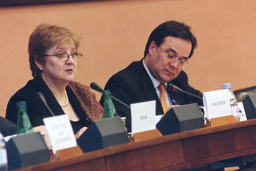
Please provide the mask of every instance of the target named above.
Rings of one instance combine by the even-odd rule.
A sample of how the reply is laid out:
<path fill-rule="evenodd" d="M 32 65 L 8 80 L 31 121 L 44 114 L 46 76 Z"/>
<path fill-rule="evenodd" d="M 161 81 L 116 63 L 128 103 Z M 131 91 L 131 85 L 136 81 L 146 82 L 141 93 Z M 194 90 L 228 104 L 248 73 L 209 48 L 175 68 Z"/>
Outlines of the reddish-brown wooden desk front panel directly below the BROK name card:
<path fill-rule="evenodd" d="M 180 140 L 106 157 L 108 171 L 150 171 L 177 163 L 184 163 Z"/>

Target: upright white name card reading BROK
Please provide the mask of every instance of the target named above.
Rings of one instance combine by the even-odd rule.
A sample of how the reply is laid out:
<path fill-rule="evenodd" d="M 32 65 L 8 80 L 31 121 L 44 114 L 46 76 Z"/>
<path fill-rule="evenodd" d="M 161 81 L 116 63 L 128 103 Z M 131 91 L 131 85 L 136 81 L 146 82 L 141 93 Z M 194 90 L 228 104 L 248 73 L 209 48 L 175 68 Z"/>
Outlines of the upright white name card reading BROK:
<path fill-rule="evenodd" d="M 131 104 L 132 133 L 156 129 L 156 101 Z"/>

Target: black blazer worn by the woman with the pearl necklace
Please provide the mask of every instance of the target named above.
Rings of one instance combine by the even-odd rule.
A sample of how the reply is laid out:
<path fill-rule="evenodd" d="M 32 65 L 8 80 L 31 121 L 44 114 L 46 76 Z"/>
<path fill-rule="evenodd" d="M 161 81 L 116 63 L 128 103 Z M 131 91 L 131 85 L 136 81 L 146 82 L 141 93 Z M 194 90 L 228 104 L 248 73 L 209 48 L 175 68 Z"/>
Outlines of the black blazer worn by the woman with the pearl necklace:
<path fill-rule="evenodd" d="M 81 106 L 77 102 L 72 90 L 66 86 L 66 91 L 68 95 L 69 103 L 72 104 L 73 109 L 80 118 L 83 126 L 89 126 L 90 122 L 86 119 L 86 115 L 81 109 Z M 42 100 L 38 97 L 37 93 L 42 92 L 45 100 L 54 113 L 54 115 L 63 115 L 65 114 L 62 108 L 60 107 L 58 101 L 52 94 L 51 90 L 48 88 L 43 79 L 39 76 L 36 76 L 33 80 L 28 81 L 28 83 L 19 89 L 9 100 L 6 109 L 5 118 L 17 124 L 17 107 L 16 103 L 19 101 L 25 101 L 27 103 L 27 112 L 29 115 L 30 122 L 33 127 L 44 125 L 43 118 L 53 116 Z M 76 128 L 74 122 L 71 122 L 73 127 L 74 134 L 79 131 Z M 82 128 L 82 125 L 81 125 Z"/>

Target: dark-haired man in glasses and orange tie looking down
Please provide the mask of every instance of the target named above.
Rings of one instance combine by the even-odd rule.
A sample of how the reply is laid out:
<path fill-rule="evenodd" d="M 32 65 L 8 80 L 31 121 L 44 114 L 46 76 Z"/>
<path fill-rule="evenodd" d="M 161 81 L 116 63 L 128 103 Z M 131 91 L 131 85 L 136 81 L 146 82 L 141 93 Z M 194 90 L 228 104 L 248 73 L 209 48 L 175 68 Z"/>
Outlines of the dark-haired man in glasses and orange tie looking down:
<path fill-rule="evenodd" d="M 203 101 L 198 98 L 166 89 L 167 84 L 172 83 L 202 97 L 200 91 L 188 84 L 188 76 L 182 71 L 189 66 L 188 59 L 193 55 L 196 45 L 197 40 L 189 26 L 177 21 L 164 22 L 150 34 L 144 58 L 114 74 L 104 89 L 110 90 L 114 97 L 127 105 L 156 100 L 156 115 L 164 114 L 174 104 L 202 105 Z M 113 102 L 118 115 L 126 117 L 126 127 L 131 132 L 131 110 Z M 100 103 L 103 105 L 103 97 Z"/>

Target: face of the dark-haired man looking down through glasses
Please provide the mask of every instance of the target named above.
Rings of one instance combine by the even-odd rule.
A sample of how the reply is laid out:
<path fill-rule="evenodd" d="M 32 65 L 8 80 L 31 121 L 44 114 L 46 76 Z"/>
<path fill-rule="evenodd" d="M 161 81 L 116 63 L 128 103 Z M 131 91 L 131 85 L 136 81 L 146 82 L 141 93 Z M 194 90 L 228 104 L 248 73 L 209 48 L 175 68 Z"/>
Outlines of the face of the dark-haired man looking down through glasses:
<path fill-rule="evenodd" d="M 160 45 L 163 51 L 177 60 L 187 61 L 192 48 L 191 41 L 179 37 L 167 36 Z M 154 41 L 149 47 L 149 58 L 145 62 L 148 70 L 154 78 L 162 83 L 167 83 L 175 79 L 180 74 L 182 68 L 178 66 L 178 61 L 171 62 L 161 48 Z"/>

